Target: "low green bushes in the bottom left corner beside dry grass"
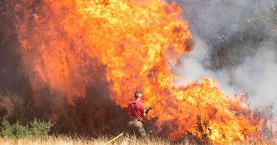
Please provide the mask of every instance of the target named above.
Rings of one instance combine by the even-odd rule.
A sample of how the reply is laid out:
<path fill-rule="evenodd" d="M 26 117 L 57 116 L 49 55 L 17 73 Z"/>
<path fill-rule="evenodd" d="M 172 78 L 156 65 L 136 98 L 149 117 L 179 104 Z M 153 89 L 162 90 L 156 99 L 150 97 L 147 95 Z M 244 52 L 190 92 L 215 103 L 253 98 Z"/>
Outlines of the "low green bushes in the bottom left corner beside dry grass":
<path fill-rule="evenodd" d="M 50 131 L 51 121 L 44 122 L 35 119 L 35 121 L 30 122 L 29 126 L 22 126 L 19 122 L 11 125 L 6 119 L 1 122 L 1 136 L 9 138 L 21 138 L 21 137 L 47 137 Z"/>

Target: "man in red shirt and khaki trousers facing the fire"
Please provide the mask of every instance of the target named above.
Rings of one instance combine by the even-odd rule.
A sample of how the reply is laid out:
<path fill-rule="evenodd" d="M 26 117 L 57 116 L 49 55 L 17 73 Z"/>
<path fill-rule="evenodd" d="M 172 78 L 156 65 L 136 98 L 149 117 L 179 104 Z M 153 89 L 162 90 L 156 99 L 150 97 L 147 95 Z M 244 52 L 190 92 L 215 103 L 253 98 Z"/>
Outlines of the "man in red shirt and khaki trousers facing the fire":
<path fill-rule="evenodd" d="M 128 135 L 138 135 L 139 137 L 145 138 L 146 133 L 143 128 L 143 118 L 146 113 L 143 103 L 141 103 L 142 97 L 143 94 L 141 91 L 136 91 L 136 93 L 134 93 L 134 101 L 128 104 L 129 122 L 127 123 L 126 133 Z"/>

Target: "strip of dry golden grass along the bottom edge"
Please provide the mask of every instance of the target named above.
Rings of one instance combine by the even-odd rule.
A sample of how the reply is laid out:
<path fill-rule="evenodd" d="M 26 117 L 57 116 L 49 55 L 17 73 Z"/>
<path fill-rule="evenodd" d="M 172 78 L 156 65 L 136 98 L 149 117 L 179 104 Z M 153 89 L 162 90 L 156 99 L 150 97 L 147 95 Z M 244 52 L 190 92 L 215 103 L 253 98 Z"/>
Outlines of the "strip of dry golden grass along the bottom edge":
<path fill-rule="evenodd" d="M 59 144 L 59 145 L 81 145 L 81 144 L 105 144 L 106 142 L 109 141 L 109 139 L 112 139 L 112 137 L 98 137 L 98 138 L 88 138 L 88 137 L 69 137 L 69 136 L 57 136 L 57 137 L 47 137 L 44 139 L 32 139 L 32 138 L 22 138 L 22 139 L 9 139 L 9 138 L 0 138 L 0 144 L 3 145 L 37 145 L 37 144 L 42 144 L 42 145 L 48 145 L 48 144 Z M 277 138 L 271 139 L 271 141 L 255 141 L 255 140 L 249 140 L 247 142 L 233 142 L 231 144 L 235 145 L 253 145 L 253 144 L 276 144 L 277 143 Z M 183 141 L 183 142 L 170 142 L 168 140 L 164 139 L 146 139 L 146 140 L 141 140 L 141 139 L 136 139 L 134 137 L 120 137 L 119 139 L 116 139 L 116 141 L 112 142 L 111 144 L 113 145 L 129 145 L 129 144 L 134 144 L 134 145 L 152 145 L 152 144 L 195 144 L 192 142 L 188 141 Z M 110 145 L 111 145 L 110 144 Z"/>

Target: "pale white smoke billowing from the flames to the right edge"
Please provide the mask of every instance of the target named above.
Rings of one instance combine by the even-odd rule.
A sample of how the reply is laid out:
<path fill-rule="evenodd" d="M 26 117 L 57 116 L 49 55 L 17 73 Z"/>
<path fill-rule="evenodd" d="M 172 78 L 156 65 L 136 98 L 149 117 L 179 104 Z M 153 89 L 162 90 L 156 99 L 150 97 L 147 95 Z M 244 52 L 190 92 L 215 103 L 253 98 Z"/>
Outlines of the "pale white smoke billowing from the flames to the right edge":
<path fill-rule="evenodd" d="M 201 39 L 195 38 L 195 41 L 195 49 L 184 55 L 181 63 L 175 67 L 175 73 L 179 75 L 177 85 L 211 77 L 220 82 L 221 89 L 228 95 L 248 93 L 254 107 L 276 103 L 277 64 L 272 44 L 258 48 L 254 56 L 247 56 L 238 66 L 215 72 L 209 67 L 211 55 L 207 51 L 208 46 Z"/>

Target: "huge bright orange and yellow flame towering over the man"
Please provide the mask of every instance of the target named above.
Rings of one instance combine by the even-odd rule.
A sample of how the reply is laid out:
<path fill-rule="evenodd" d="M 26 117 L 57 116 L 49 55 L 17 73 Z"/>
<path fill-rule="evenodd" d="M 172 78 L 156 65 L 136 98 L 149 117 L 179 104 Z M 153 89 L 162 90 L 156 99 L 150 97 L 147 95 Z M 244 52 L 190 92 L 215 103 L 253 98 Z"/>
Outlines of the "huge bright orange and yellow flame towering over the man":
<path fill-rule="evenodd" d="M 261 119 L 240 97 L 228 97 L 218 83 L 202 78 L 176 87 L 170 70 L 192 48 L 188 23 L 177 3 L 163 0 L 32 0 L 16 10 L 17 30 L 33 88 L 50 84 L 67 96 L 82 95 L 93 83 L 89 72 L 105 66 L 111 99 L 125 107 L 142 90 L 150 117 L 168 137 L 197 135 L 197 115 L 206 118 L 213 142 L 243 140 L 260 131 Z M 100 72 L 99 72 L 100 73 Z M 39 78 L 39 79 L 37 79 Z"/>

